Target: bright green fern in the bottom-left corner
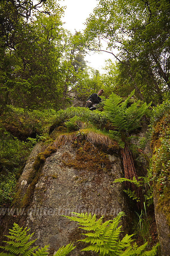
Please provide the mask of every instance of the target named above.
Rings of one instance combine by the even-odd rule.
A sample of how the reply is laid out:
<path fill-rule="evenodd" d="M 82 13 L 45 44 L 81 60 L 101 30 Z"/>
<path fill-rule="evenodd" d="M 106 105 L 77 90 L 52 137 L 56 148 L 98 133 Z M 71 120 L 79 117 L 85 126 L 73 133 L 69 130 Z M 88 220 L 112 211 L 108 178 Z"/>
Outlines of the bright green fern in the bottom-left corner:
<path fill-rule="evenodd" d="M 49 245 L 46 245 L 44 248 L 38 249 L 38 251 L 35 251 L 38 246 L 33 246 L 31 245 L 37 240 L 31 240 L 29 239 L 32 237 L 32 234 L 27 235 L 27 232 L 30 230 L 26 228 L 19 227 L 18 224 L 14 223 L 13 224 L 13 229 L 9 229 L 9 234 L 6 236 L 9 240 L 8 241 L 3 241 L 7 245 L 6 246 L 0 246 L 0 248 L 4 249 L 4 251 L 7 252 L 1 252 L 1 256 L 15 256 L 15 255 L 33 255 L 33 256 L 46 256 L 48 254 L 47 249 L 49 248 Z M 31 248 L 30 248 L 31 247 Z M 34 252 L 35 251 L 35 252 Z"/>

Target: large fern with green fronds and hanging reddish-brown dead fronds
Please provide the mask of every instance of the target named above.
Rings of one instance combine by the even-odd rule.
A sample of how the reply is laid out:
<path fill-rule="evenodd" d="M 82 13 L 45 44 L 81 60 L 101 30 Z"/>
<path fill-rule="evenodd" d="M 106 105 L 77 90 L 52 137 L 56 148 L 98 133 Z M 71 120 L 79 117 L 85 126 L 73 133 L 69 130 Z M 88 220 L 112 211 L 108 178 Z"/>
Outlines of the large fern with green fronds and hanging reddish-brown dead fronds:
<path fill-rule="evenodd" d="M 114 139 L 118 141 L 121 147 L 121 156 L 123 158 L 124 177 L 132 180 L 135 177 L 138 180 L 136 169 L 133 162 L 131 148 L 132 145 L 129 141 L 130 131 L 140 126 L 140 120 L 144 114 L 148 112 L 150 104 L 141 104 L 140 100 L 134 102 L 128 107 L 130 98 L 134 95 L 133 90 L 130 96 L 125 101 L 123 98 L 112 93 L 106 100 L 104 110 L 106 116 L 112 122 L 113 130 L 109 130 L 109 133 Z M 125 183 L 131 190 L 136 189 L 133 183 Z M 128 188 L 128 187 L 127 187 Z M 138 189 L 140 191 L 140 189 Z"/>

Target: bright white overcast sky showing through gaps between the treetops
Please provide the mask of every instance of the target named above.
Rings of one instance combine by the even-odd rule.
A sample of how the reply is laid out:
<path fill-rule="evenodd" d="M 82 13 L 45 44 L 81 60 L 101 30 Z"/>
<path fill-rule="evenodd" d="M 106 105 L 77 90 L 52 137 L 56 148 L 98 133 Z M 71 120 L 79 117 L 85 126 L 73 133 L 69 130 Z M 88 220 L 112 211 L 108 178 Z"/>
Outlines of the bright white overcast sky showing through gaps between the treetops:
<path fill-rule="evenodd" d="M 65 22 L 64 28 L 69 30 L 72 34 L 76 31 L 83 31 L 85 29 L 85 20 L 93 12 L 93 9 L 97 6 L 97 0 L 61 0 L 61 6 L 67 6 L 65 15 L 62 21 Z M 109 53 L 94 53 L 89 52 L 85 60 L 87 60 L 88 66 L 99 70 L 103 73 L 102 67 L 105 67 L 105 60 L 112 59 L 113 56 Z"/>

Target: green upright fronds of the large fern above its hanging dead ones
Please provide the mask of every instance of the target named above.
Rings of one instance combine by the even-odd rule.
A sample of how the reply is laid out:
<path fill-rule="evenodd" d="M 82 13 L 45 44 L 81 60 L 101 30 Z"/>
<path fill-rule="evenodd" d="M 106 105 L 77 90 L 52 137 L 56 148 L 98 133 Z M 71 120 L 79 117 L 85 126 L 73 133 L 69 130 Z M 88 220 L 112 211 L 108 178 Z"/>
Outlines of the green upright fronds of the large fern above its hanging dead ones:
<path fill-rule="evenodd" d="M 110 134 L 118 140 L 120 147 L 124 148 L 126 137 L 129 137 L 129 132 L 137 129 L 140 126 L 141 118 L 148 113 L 150 104 L 140 104 L 140 100 L 134 102 L 128 107 L 130 98 L 134 95 L 133 90 L 130 96 L 125 101 L 118 95 L 112 93 L 105 102 L 104 110 L 106 116 L 112 122 L 114 130 L 110 130 Z"/>

